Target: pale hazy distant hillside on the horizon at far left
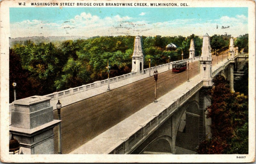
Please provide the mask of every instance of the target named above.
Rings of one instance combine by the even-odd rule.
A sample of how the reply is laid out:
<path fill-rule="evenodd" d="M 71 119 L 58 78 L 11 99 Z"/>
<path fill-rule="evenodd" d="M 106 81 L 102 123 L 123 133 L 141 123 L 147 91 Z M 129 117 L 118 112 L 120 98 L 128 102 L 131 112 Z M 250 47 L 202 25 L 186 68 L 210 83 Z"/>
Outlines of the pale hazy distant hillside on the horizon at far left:
<path fill-rule="evenodd" d="M 83 36 L 50 36 L 50 37 L 44 37 L 44 36 L 33 36 L 33 37 L 24 37 L 24 38 L 9 38 L 9 44 L 10 47 L 13 47 L 15 44 L 22 44 L 24 45 L 26 40 L 30 40 L 34 42 L 35 44 L 44 42 L 44 43 L 58 43 L 65 40 L 77 40 L 77 39 L 88 39 L 88 37 Z"/>

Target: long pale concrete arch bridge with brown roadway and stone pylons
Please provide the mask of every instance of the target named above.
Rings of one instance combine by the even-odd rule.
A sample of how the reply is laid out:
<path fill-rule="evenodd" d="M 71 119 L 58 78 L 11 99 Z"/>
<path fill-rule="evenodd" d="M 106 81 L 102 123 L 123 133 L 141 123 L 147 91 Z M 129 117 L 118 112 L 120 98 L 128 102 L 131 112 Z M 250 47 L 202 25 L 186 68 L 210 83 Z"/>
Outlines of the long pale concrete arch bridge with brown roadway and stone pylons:
<path fill-rule="evenodd" d="M 230 91 L 234 92 L 234 68 L 248 58 L 247 54 L 238 54 L 233 39 L 228 51 L 213 56 L 209 41 L 205 34 L 202 55 L 195 57 L 191 40 L 189 59 L 184 60 L 190 63 L 189 80 L 188 70 L 172 73 L 172 63 L 143 69 L 140 37 L 136 37 L 133 72 L 111 78 L 110 91 L 107 91 L 108 80 L 103 80 L 46 95 L 51 97 L 49 103 L 55 119 L 57 100 L 64 106 L 61 109 L 62 153 L 195 153 L 200 140 L 211 137 L 211 120 L 205 118 L 204 112 L 211 102 L 204 94 L 205 89 L 212 87 L 212 78 L 220 74 L 228 79 Z M 154 103 L 151 76 L 156 69 L 160 73 L 158 102 Z M 15 110 L 13 102 L 10 114 Z M 10 132 L 20 137 L 12 122 Z M 57 128 L 54 128 L 53 140 L 56 152 Z"/>

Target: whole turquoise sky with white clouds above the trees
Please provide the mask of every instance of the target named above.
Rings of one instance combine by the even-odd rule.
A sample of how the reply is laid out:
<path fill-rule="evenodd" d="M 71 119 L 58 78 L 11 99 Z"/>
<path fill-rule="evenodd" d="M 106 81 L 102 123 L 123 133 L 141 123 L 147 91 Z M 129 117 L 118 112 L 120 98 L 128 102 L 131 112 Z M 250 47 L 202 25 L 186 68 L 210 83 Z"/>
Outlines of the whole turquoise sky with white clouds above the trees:
<path fill-rule="evenodd" d="M 218 25 L 218 28 L 217 28 Z M 221 29 L 221 26 L 229 28 Z M 248 8 L 10 8 L 10 37 L 248 33 Z"/>

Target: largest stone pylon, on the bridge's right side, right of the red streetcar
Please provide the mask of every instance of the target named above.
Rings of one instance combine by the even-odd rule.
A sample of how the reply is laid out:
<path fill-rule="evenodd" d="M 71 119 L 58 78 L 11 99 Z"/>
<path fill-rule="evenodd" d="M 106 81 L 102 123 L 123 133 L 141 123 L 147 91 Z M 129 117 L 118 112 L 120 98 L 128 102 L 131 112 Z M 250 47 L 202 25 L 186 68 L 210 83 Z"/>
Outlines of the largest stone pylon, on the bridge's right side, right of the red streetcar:
<path fill-rule="evenodd" d="M 204 81 L 204 86 L 212 86 L 212 53 L 210 37 L 207 33 L 203 38 L 202 55 L 200 57 L 200 75 Z"/>

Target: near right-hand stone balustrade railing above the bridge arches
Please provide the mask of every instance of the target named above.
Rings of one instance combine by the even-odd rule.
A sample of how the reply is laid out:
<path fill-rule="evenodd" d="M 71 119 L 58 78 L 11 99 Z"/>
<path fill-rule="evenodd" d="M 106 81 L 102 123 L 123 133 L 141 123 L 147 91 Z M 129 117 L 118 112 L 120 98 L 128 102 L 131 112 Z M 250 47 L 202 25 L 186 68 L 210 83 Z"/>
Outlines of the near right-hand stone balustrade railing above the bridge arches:
<path fill-rule="evenodd" d="M 158 128 L 161 123 L 163 123 L 174 111 L 176 111 L 183 103 L 186 102 L 191 96 L 193 96 L 199 89 L 203 87 L 203 81 L 198 82 L 196 86 L 190 89 L 188 92 L 184 93 L 182 96 L 173 100 L 173 103 L 166 107 L 163 111 L 154 115 L 151 121 L 145 123 L 145 125 L 140 125 L 140 128 L 135 128 L 134 133 L 127 139 L 125 139 L 121 144 L 117 145 L 116 148 L 110 152 L 105 152 L 109 154 L 129 154 L 137 144 L 140 143 L 143 138 L 147 137 L 152 131 Z"/>

